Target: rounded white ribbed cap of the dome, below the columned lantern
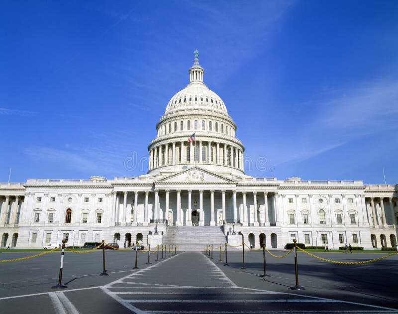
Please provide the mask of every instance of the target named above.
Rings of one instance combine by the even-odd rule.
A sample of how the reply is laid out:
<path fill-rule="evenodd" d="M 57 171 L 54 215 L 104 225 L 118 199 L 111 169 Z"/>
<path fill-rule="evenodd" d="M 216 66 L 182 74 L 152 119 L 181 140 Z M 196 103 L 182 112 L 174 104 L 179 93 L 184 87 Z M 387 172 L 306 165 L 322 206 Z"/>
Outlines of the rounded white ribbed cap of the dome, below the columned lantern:
<path fill-rule="evenodd" d="M 169 101 L 165 114 L 181 109 L 211 109 L 228 114 L 224 102 L 200 81 L 191 81 Z"/>

